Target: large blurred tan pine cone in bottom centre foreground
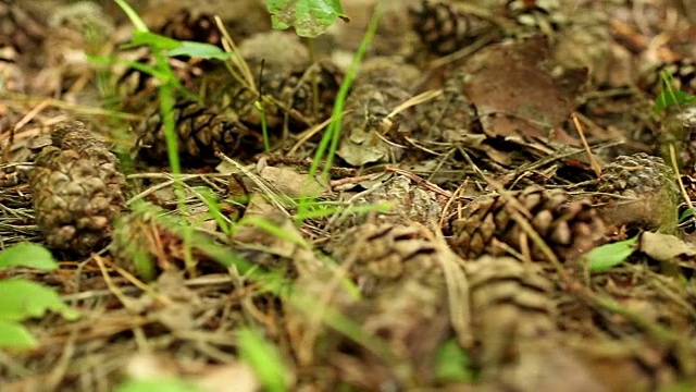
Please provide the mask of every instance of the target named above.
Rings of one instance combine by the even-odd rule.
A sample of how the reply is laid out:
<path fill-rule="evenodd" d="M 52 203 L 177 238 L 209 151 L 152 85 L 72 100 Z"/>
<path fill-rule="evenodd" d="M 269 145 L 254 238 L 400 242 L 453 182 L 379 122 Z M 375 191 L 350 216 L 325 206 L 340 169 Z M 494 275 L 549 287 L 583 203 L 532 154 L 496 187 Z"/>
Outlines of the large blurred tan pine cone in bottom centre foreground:
<path fill-rule="evenodd" d="M 449 336 L 447 287 L 440 266 L 457 265 L 444 261 L 445 257 L 457 257 L 446 246 L 438 247 L 422 230 L 363 224 L 346 233 L 343 246 L 334 253 L 337 260 L 353 261 L 357 280 L 366 292 L 363 301 L 347 307 L 344 314 L 361 323 L 363 331 L 381 336 L 399 362 L 409 364 L 410 371 L 415 372 L 390 373 L 369 350 L 351 347 L 352 342 L 347 341 L 341 344 L 348 347 L 344 348 L 346 354 L 359 357 L 358 363 L 370 375 L 351 380 L 368 383 L 361 389 L 375 390 L 387 382 L 403 382 L 403 378 L 428 380 L 434 373 L 435 353 Z"/>

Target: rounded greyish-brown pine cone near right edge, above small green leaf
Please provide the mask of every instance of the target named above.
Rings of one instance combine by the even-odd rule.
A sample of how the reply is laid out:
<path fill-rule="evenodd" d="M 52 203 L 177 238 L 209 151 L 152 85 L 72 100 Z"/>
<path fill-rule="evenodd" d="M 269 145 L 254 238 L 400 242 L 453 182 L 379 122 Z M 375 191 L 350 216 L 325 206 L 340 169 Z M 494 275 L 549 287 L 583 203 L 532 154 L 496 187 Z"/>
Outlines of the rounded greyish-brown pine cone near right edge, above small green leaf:
<path fill-rule="evenodd" d="M 605 223 L 645 230 L 674 228 L 679 188 L 662 158 L 617 157 L 602 169 L 595 201 Z"/>

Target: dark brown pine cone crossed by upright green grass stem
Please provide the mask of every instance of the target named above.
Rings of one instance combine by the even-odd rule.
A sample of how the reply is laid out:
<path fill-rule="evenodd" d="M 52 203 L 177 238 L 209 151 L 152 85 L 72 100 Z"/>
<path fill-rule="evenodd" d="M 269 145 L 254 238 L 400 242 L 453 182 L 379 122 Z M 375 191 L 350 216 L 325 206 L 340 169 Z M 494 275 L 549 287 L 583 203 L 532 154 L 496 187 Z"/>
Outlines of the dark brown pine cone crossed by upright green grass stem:
<path fill-rule="evenodd" d="M 232 156 L 259 152 L 262 147 L 261 136 L 236 118 L 215 113 L 197 102 L 177 102 L 174 123 L 179 157 L 185 164 L 216 163 L 220 161 L 215 157 L 216 151 Z M 153 163 L 166 162 L 166 138 L 159 108 L 139 124 L 137 133 L 139 157 Z"/>

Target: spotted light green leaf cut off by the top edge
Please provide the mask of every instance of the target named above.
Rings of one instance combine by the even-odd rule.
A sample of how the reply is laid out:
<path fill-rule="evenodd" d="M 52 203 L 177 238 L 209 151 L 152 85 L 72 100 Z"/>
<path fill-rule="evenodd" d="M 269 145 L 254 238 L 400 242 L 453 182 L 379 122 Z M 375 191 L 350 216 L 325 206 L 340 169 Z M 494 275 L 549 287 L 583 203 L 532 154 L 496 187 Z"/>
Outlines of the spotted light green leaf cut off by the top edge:
<path fill-rule="evenodd" d="M 266 0 L 273 28 L 295 27 L 302 37 L 316 37 L 346 19 L 339 0 Z"/>

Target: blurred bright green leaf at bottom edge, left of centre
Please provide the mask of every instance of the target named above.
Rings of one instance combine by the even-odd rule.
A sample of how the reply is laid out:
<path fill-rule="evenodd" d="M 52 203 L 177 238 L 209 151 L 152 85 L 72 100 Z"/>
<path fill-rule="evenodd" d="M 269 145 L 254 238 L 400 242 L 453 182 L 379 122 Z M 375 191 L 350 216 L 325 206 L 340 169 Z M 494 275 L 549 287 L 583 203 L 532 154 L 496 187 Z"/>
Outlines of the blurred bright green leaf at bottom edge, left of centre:
<path fill-rule="evenodd" d="M 287 371 L 275 346 L 249 329 L 239 331 L 238 343 L 239 357 L 251 366 L 264 391 L 287 391 Z"/>

